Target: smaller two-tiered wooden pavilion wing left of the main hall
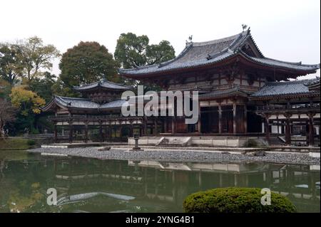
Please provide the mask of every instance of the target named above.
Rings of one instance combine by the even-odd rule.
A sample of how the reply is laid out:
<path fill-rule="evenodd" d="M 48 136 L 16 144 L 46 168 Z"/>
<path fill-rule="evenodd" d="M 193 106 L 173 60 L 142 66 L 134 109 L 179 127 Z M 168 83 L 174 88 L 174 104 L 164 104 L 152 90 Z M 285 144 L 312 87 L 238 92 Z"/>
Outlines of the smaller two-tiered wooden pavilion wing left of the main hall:
<path fill-rule="evenodd" d="M 54 96 L 44 112 L 54 112 L 49 117 L 54 122 L 55 141 L 74 139 L 91 141 L 105 141 L 116 137 L 132 136 L 133 130 L 141 130 L 142 117 L 122 117 L 121 105 L 126 100 L 121 100 L 121 93 L 131 90 L 130 86 L 112 83 L 101 79 L 96 83 L 73 87 L 82 98 Z M 123 132 L 126 127 L 126 132 Z M 65 130 L 68 132 L 66 136 Z M 89 137 L 88 131 L 96 130 L 96 137 Z M 58 137 L 58 131 L 61 131 Z M 76 134 L 74 134 L 76 132 Z M 79 135 L 79 137 L 78 137 Z M 98 135 L 98 136 L 97 136 Z"/>

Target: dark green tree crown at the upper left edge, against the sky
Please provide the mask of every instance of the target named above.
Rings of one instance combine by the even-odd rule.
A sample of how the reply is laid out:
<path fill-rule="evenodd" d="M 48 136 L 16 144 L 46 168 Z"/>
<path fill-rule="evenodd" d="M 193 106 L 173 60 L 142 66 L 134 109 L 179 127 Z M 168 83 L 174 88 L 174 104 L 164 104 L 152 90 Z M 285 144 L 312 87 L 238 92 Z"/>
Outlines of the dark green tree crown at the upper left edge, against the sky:
<path fill-rule="evenodd" d="M 21 55 L 16 46 L 10 43 L 0 43 L 0 78 L 14 85 L 22 75 L 23 65 Z"/>

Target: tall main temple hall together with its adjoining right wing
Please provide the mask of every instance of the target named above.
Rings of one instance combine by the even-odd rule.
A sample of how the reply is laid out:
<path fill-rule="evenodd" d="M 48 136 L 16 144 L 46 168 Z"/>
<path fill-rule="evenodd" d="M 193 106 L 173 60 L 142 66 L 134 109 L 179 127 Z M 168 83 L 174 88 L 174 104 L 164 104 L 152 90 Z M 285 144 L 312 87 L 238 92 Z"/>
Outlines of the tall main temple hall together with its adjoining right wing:
<path fill-rule="evenodd" d="M 307 127 L 310 143 L 313 143 L 312 134 L 319 134 L 319 127 L 315 132 L 315 125 L 320 125 L 320 91 L 317 89 L 320 79 L 279 81 L 316 73 L 319 68 L 320 64 L 266 58 L 248 29 L 215 41 L 187 42 L 173 60 L 121 69 L 119 73 L 143 83 L 160 85 L 163 90 L 198 90 L 200 116 L 196 127 L 185 125 L 183 117 L 168 117 L 165 132 L 220 135 L 265 132 L 269 139 L 273 130 L 285 134 L 285 142 L 290 144 L 295 125 L 310 124 Z"/>

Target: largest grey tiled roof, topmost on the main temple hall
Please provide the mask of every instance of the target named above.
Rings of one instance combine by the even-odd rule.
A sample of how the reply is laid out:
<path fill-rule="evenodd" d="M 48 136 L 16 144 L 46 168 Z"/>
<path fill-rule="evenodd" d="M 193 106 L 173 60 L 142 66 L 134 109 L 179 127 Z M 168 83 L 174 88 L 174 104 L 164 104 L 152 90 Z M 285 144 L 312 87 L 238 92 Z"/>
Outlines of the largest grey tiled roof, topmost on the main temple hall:
<path fill-rule="evenodd" d="M 244 52 L 245 43 L 251 43 L 255 56 L 249 56 Z M 152 75 L 156 73 L 169 72 L 171 70 L 180 70 L 185 68 L 196 68 L 204 65 L 213 65 L 220 63 L 223 60 L 228 60 L 235 56 L 240 56 L 259 65 L 264 65 L 272 68 L 283 68 L 295 71 L 312 72 L 320 68 L 317 65 L 303 65 L 301 63 L 290 63 L 272 58 L 265 58 L 256 46 L 253 40 L 250 29 L 243 31 L 235 36 L 228 38 L 220 38 L 215 41 L 202 43 L 187 43 L 185 49 L 173 60 L 168 60 L 164 63 L 155 65 L 146 65 L 133 69 L 119 69 L 119 73 L 124 76 L 133 78 L 138 75 Z"/>

